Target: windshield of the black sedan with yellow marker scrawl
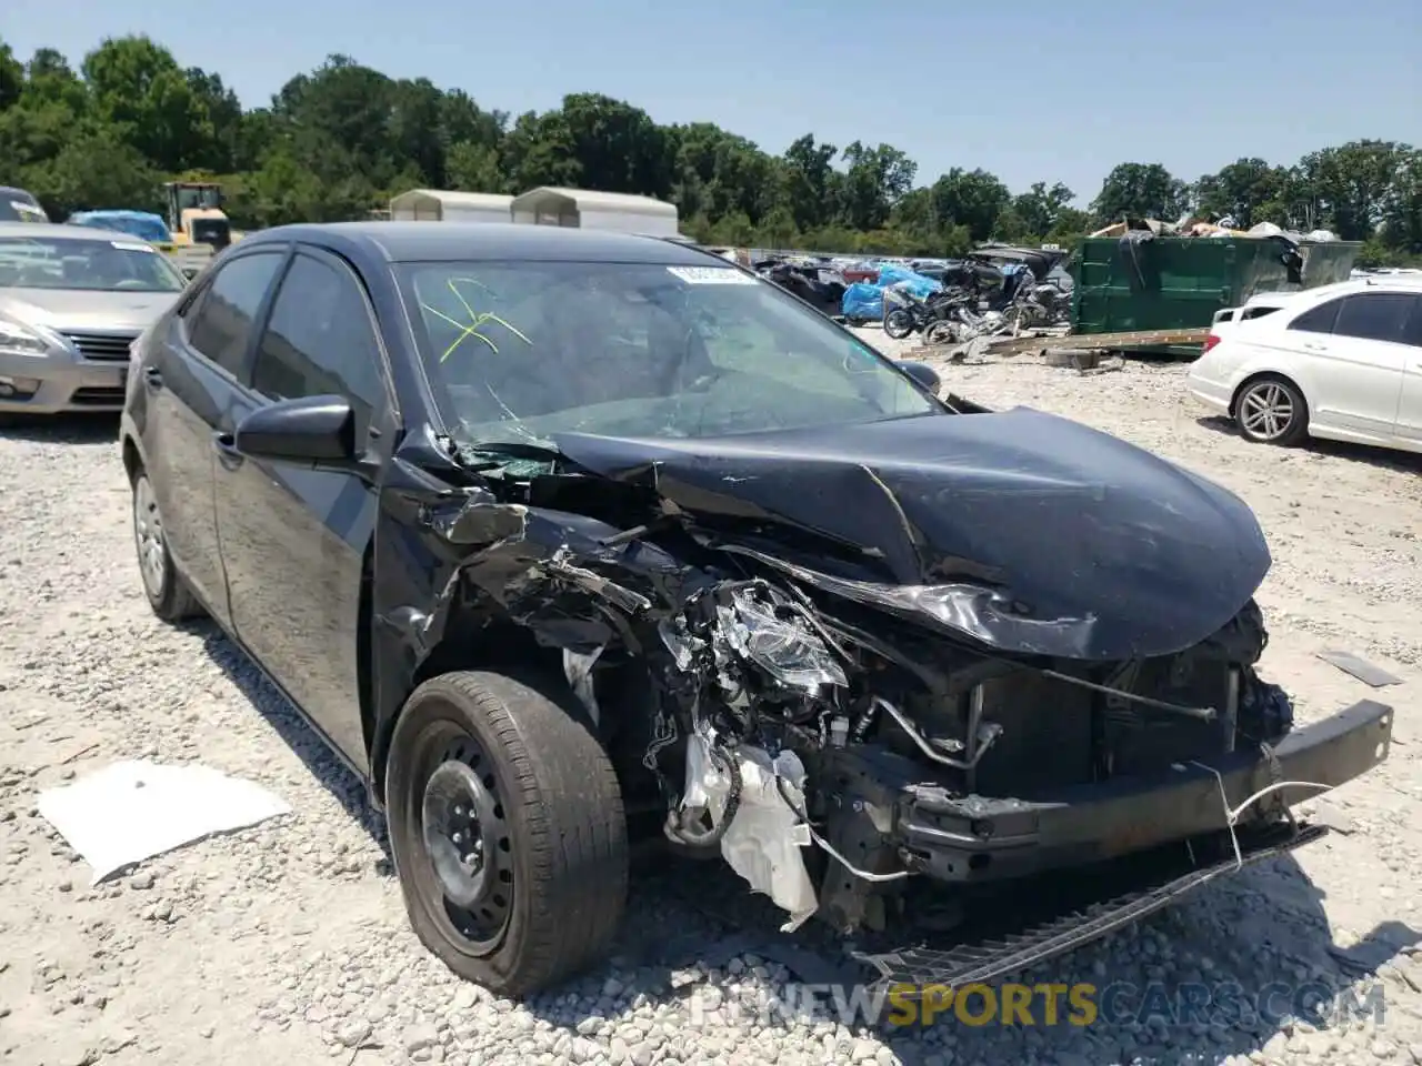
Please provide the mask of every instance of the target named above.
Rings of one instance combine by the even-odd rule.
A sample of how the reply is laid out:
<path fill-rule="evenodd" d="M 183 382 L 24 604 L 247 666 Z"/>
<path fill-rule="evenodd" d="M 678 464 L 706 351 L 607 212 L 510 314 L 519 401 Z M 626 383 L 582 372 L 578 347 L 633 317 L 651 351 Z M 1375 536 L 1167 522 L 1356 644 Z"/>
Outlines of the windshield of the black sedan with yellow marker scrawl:
<path fill-rule="evenodd" d="M 469 442 L 724 436 L 939 409 L 855 337 L 732 267 L 405 271 L 431 378 Z"/>

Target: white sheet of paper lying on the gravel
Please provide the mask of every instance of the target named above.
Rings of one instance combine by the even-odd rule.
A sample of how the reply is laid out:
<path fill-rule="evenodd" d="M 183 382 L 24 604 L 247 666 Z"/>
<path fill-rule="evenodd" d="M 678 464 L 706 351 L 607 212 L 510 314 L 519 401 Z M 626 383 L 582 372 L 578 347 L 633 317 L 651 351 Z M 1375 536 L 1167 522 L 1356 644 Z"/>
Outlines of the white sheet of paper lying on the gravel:
<path fill-rule="evenodd" d="M 292 807 L 252 782 L 206 766 L 115 762 L 40 793 L 40 814 L 94 868 L 98 884 L 213 833 L 255 826 Z"/>

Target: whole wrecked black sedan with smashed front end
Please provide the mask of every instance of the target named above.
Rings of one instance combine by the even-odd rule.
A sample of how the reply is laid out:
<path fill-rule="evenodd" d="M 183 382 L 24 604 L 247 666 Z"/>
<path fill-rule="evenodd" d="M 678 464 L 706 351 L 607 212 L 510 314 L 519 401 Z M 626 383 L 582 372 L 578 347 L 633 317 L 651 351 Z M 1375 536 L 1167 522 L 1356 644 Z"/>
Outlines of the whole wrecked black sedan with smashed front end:
<path fill-rule="evenodd" d="M 1384 759 L 1392 715 L 1295 728 L 1256 672 L 1247 507 L 936 388 L 668 242 L 264 230 L 139 343 L 144 590 L 368 782 L 421 940 L 502 994 L 600 958 L 640 834 L 786 930 L 1092 871 L 984 944 L 863 955 L 954 982 L 1314 839 L 1288 803 Z"/>

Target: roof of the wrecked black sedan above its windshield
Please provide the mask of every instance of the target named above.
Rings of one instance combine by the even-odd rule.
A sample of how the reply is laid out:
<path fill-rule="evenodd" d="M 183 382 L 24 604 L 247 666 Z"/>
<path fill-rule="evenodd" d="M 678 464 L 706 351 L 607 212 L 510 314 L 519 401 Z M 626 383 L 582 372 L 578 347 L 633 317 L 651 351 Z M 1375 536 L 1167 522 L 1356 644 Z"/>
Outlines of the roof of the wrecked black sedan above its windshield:
<path fill-rule="evenodd" d="M 388 263 L 469 260 L 707 266 L 708 252 L 654 236 L 513 222 L 331 222 L 257 230 L 242 244 L 301 240 L 360 247 Z M 720 260 L 725 266 L 725 260 Z"/>

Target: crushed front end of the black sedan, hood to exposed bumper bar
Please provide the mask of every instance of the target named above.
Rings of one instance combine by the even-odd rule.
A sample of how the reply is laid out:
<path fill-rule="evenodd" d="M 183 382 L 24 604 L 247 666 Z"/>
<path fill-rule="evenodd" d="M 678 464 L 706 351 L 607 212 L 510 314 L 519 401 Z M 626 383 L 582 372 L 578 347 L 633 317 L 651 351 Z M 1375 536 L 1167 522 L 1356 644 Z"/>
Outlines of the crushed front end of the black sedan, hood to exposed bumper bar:
<path fill-rule="evenodd" d="M 867 949 L 886 981 L 1099 937 L 1317 839 L 1290 804 L 1386 758 L 1389 708 L 1295 726 L 1257 674 L 1270 556 L 1244 503 L 1085 426 L 557 443 L 434 509 L 458 561 L 412 658 L 557 650 L 626 809 L 785 930 L 939 931 Z"/>

